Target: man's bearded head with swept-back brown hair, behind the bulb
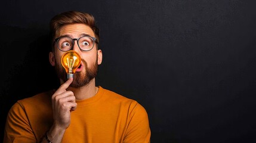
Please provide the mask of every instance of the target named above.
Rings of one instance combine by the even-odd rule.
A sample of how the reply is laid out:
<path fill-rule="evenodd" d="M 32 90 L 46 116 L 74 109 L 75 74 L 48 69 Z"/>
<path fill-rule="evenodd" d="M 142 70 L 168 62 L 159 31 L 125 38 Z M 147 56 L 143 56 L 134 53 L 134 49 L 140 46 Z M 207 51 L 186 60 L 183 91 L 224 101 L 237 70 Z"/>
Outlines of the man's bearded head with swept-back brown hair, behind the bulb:
<path fill-rule="evenodd" d="M 101 64 L 102 52 L 97 48 L 99 41 L 99 30 L 95 25 L 94 17 L 88 13 L 81 13 L 78 11 L 67 11 L 58 15 L 55 15 L 50 22 L 51 39 L 53 43 L 53 50 L 49 54 L 49 60 L 52 66 L 55 66 L 58 77 L 61 82 L 67 80 L 67 73 L 61 66 L 61 56 L 64 51 L 62 48 L 70 46 L 70 49 L 78 52 L 81 55 L 82 63 L 78 67 L 75 73 L 74 80 L 70 86 L 79 88 L 85 86 L 91 82 L 97 75 L 97 66 Z M 95 42 L 92 45 L 92 49 L 84 51 L 79 39 L 81 37 L 88 36 L 95 38 Z M 71 42 L 61 42 L 60 38 L 71 39 Z M 81 38 L 83 39 L 83 38 Z M 88 43 L 86 43 L 88 44 Z"/>

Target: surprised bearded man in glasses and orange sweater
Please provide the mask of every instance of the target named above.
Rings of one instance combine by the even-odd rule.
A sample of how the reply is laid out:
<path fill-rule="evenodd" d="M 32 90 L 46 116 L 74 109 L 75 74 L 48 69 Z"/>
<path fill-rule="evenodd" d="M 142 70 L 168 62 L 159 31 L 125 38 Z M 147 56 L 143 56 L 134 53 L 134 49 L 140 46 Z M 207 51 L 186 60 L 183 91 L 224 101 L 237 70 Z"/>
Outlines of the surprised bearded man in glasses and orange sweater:
<path fill-rule="evenodd" d="M 55 66 L 61 86 L 19 100 L 11 107 L 5 125 L 7 142 L 150 142 L 146 110 L 138 102 L 95 86 L 99 30 L 91 14 L 67 11 L 50 23 Z M 64 52 L 81 56 L 74 77 L 67 79 L 61 66 Z"/>

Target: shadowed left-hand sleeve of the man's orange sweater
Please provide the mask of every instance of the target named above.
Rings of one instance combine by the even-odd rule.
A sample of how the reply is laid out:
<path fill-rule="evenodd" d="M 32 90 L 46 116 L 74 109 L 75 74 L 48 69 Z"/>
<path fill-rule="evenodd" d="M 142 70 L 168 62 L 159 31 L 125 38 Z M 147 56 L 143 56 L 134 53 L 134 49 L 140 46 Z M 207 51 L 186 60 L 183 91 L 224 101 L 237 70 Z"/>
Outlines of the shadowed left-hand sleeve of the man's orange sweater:
<path fill-rule="evenodd" d="M 26 111 L 18 102 L 11 107 L 5 123 L 4 143 L 9 142 L 36 142 Z"/>

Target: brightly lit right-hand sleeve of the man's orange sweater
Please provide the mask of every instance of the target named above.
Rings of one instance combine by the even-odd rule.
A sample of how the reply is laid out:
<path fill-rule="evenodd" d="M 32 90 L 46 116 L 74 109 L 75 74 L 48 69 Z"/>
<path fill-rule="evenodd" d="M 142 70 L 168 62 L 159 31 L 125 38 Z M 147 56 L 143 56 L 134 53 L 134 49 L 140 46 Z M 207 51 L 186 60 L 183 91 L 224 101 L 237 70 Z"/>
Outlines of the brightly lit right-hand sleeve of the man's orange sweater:
<path fill-rule="evenodd" d="M 143 106 L 134 101 L 130 105 L 129 125 L 124 138 L 125 143 L 149 143 L 150 127 L 147 112 Z"/>

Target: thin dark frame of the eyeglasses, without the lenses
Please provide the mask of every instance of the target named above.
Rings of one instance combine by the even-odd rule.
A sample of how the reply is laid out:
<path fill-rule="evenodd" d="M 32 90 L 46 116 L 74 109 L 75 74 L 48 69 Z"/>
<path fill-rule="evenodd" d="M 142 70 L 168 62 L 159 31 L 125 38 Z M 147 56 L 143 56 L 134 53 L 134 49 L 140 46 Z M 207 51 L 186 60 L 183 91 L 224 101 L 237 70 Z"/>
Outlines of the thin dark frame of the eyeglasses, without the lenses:
<path fill-rule="evenodd" d="M 60 38 L 63 38 L 63 37 L 67 37 L 67 38 L 70 38 L 69 36 L 60 36 L 59 38 L 56 38 L 56 39 L 54 39 L 54 42 L 53 43 L 57 43 L 57 48 L 60 50 L 60 51 L 63 51 L 63 50 L 61 50 L 60 49 L 60 47 L 58 47 L 58 41 L 60 40 Z M 90 38 L 92 38 L 92 40 L 93 40 L 93 45 L 92 45 L 92 48 L 94 47 L 94 44 L 95 43 L 98 43 L 98 41 L 97 41 L 97 38 L 94 38 L 94 37 L 92 37 L 92 36 L 82 36 L 81 38 L 84 38 L 84 37 L 90 37 Z M 75 41 L 78 43 L 78 41 L 79 41 L 79 39 L 81 39 L 81 38 L 70 38 L 70 39 L 72 39 L 72 47 L 69 49 L 69 50 L 71 50 L 71 49 L 73 49 L 73 47 L 74 47 L 74 45 L 75 45 Z M 90 51 L 91 49 L 88 49 L 88 50 L 84 50 L 84 49 L 81 49 L 80 48 L 80 46 L 79 46 L 79 43 L 78 43 L 78 47 L 79 47 L 79 49 L 81 50 L 81 51 Z M 69 50 L 67 50 L 67 51 L 69 51 Z M 66 51 L 63 51 L 63 52 L 66 52 Z"/>

